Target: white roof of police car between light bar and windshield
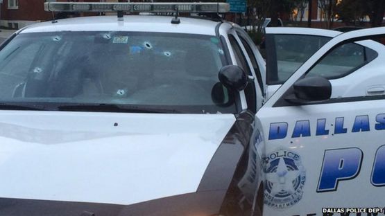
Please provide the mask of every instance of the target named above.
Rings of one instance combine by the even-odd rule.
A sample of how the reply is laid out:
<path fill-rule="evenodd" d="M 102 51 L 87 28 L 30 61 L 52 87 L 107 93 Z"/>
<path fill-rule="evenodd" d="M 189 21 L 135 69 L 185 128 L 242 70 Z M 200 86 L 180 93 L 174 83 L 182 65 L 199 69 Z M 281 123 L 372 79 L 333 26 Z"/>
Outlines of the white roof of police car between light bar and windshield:
<path fill-rule="evenodd" d="M 180 24 L 171 24 L 173 17 L 128 15 L 123 21 L 117 16 L 76 17 L 46 21 L 28 26 L 21 33 L 46 33 L 58 31 L 131 31 L 160 33 L 189 33 L 216 35 L 218 21 L 180 17 Z"/>

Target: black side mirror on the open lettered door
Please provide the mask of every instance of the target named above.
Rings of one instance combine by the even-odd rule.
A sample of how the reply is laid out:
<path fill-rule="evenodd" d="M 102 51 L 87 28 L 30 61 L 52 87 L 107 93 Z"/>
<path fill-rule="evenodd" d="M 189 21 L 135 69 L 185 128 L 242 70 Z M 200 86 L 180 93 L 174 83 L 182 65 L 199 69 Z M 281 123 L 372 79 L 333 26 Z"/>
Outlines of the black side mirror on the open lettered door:
<path fill-rule="evenodd" d="M 321 77 L 309 77 L 298 80 L 293 84 L 294 93 L 287 96 L 285 100 L 304 104 L 319 102 L 330 99 L 332 96 L 332 84 L 329 80 Z"/>

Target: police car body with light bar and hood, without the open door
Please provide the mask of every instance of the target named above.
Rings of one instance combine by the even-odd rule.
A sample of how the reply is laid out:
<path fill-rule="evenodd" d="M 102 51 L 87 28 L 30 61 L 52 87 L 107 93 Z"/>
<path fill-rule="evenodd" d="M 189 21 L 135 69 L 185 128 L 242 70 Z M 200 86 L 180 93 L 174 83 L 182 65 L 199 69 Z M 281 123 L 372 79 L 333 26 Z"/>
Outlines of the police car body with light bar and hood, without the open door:
<path fill-rule="evenodd" d="M 45 6 L 119 17 L 35 24 L 1 45 L 0 215 L 257 214 L 246 109 L 262 90 L 254 69 L 231 65 L 263 62 L 248 35 L 221 20 L 121 12 L 228 4 Z"/>

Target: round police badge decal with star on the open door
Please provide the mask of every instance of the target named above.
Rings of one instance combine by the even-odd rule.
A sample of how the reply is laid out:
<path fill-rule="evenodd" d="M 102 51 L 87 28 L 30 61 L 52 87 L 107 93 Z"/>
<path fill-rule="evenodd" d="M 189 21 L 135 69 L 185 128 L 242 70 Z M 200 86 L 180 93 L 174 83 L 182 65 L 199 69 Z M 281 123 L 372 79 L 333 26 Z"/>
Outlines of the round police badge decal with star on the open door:
<path fill-rule="evenodd" d="M 262 159 L 264 174 L 264 204 L 283 210 L 302 199 L 306 170 L 300 155 L 279 148 Z"/>

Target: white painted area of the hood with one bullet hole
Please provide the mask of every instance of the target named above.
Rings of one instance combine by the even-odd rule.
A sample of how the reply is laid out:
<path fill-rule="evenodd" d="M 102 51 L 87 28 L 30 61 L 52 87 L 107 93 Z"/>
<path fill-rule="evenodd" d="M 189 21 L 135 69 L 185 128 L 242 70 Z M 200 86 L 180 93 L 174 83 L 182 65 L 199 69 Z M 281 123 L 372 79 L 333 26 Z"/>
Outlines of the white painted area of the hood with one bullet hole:
<path fill-rule="evenodd" d="M 1 111 L 0 197 L 134 204 L 196 192 L 232 114 Z"/>

